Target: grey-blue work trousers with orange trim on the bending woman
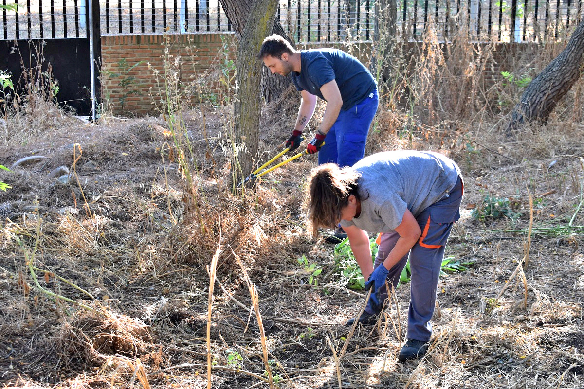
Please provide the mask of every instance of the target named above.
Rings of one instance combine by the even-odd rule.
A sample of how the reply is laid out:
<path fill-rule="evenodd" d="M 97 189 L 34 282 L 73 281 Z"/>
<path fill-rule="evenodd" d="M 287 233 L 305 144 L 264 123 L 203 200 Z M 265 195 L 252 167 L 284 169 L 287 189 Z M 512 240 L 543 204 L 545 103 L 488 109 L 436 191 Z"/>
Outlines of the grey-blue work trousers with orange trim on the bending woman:
<path fill-rule="evenodd" d="M 463 199 L 464 184 L 461 177 L 448 197 L 442 198 L 422 211 L 416 220 L 422 230 L 422 236 L 401 260 L 397 262 L 387 276 L 390 288 L 397 288 L 399 276 L 408 262 L 411 271 L 411 300 L 408 311 L 408 339 L 429 341 L 432 335 L 430 319 L 436 305 L 436 289 L 444 249 L 450 230 L 456 220 L 460 219 L 460 203 Z M 381 234 L 378 239 L 379 250 L 375 259 L 374 268 L 377 268 L 394 248 L 399 239 L 397 232 Z M 380 290 L 380 301 L 388 298 L 385 286 Z M 388 302 L 385 301 L 385 304 Z M 376 314 L 371 306 L 365 309 L 370 314 Z"/>

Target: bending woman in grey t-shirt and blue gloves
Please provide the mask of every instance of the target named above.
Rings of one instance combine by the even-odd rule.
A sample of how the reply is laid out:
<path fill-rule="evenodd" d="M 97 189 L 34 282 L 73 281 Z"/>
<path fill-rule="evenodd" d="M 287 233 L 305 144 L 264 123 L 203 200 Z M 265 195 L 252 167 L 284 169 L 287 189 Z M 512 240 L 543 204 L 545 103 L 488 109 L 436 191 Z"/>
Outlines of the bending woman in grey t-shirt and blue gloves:
<path fill-rule="evenodd" d="M 373 289 L 364 313 L 347 325 L 376 323 L 388 297 L 385 281 L 396 288 L 409 257 L 411 301 L 402 362 L 427 352 L 444 248 L 460 218 L 463 192 L 457 164 L 434 152 L 382 152 L 352 167 L 323 164 L 310 176 L 305 205 L 312 233 L 340 222 L 366 289 Z M 368 232 L 381 233 L 374 264 Z"/>

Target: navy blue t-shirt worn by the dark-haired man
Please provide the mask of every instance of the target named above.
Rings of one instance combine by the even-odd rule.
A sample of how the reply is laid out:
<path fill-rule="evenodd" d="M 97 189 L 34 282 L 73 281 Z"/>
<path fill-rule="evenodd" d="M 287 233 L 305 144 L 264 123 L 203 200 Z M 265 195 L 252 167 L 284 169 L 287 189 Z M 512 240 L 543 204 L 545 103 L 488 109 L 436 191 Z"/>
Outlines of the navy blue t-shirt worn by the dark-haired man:
<path fill-rule="evenodd" d="M 377 84 L 373 75 L 359 59 L 336 48 L 316 48 L 300 52 L 300 73 L 291 72 L 292 81 L 298 90 L 322 97 L 321 87 L 336 80 L 343 99 L 342 110 L 360 103 Z"/>

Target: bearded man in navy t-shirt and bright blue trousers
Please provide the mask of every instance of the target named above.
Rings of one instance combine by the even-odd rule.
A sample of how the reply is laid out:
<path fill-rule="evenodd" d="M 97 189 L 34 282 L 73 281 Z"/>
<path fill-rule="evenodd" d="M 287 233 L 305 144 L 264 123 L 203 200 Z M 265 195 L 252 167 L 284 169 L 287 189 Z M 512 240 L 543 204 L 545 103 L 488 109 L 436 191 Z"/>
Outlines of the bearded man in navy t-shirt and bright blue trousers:
<path fill-rule="evenodd" d="M 263 41 L 258 59 L 272 74 L 291 73 L 302 95 L 294 131 L 286 141 L 290 151 L 300 145 L 320 97 L 326 101 L 326 110 L 307 152 L 319 151 L 318 164 L 332 162 L 340 167 L 363 158 L 378 99 L 375 79 L 359 59 L 334 48 L 296 51 L 275 34 Z"/>

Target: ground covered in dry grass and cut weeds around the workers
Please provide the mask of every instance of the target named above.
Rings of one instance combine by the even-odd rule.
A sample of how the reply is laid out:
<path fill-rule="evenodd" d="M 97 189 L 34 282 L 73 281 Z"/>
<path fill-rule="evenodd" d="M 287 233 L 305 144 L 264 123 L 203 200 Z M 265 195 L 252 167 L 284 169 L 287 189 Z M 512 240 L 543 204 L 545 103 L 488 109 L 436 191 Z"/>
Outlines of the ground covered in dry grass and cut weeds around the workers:
<path fill-rule="evenodd" d="M 232 195 L 227 110 L 185 115 L 192 186 L 162 118 L 62 117 L 4 145 L 6 167 L 45 158 L 0 174 L 1 383 L 199 388 L 210 369 L 215 388 L 584 388 L 584 125 L 371 132 L 367 153 L 438 150 L 465 178 L 446 255 L 468 269 L 440 278 L 430 352 L 398 363 L 408 284 L 350 333 L 365 295 L 304 229 L 315 157 Z M 287 136 L 266 116 L 263 161 Z"/>

